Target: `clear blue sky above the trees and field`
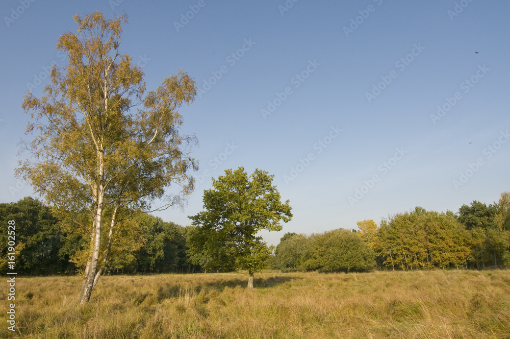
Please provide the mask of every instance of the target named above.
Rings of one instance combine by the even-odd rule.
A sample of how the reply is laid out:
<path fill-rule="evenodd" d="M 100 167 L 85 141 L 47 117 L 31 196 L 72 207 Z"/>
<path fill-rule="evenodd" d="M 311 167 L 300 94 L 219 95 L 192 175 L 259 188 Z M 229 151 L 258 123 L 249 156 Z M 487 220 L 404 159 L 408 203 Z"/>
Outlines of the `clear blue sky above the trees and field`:
<path fill-rule="evenodd" d="M 275 245 L 510 190 L 510 3 L 294 1 L 2 2 L 0 202 L 32 195 L 14 177 L 22 96 L 40 96 L 45 69 L 65 64 L 58 37 L 93 11 L 129 15 L 121 50 L 147 89 L 180 68 L 201 89 L 180 110 L 201 182 L 165 221 L 188 225 L 211 177 L 239 166 L 290 200 L 293 220 L 263 233 Z"/>

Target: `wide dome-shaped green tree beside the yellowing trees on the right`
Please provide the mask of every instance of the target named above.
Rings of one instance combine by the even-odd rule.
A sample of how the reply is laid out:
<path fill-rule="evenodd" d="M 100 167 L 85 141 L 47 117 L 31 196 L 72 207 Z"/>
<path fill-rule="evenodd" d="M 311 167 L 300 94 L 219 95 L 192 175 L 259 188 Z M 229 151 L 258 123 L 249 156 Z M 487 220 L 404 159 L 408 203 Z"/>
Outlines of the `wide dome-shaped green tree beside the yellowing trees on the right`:
<path fill-rule="evenodd" d="M 313 234 L 309 242 L 302 269 L 350 272 L 367 271 L 375 266 L 373 250 L 359 235 L 346 229 Z"/>

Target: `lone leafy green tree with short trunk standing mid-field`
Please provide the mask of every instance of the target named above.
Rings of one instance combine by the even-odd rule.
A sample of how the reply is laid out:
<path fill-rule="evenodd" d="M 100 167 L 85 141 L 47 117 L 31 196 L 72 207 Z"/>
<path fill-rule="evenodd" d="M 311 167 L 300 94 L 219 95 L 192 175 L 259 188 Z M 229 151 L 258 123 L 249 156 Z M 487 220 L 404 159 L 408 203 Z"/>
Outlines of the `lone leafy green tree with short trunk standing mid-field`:
<path fill-rule="evenodd" d="M 218 267 L 246 270 L 248 288 L 253 288 L 253 273 L 260 272 L 269 257 L 261 230 L 279 231 L 280 221 L 291 220 L 289 201 L 282 203 L 272 175 L 256 169 L 248 177 L 243 167 L 225 170 L 213 179 L 213 188 L 204 191 L 203 208 L 189 218 L 189 256 L 206 270 Z"/>

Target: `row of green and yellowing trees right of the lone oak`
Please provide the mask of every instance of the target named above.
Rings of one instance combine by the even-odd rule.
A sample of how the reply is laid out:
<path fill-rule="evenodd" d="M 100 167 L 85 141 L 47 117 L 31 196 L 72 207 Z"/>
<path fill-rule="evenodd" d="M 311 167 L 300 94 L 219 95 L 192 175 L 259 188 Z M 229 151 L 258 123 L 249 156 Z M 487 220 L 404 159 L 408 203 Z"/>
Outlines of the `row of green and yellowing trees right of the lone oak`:
<path fill-rule="evenodd" d="M 498 203 L 473 201 L 457 213 L 416 207 L 358 222 L 358 230 L 286 233 L 269 259 L 282 270 L 484 269 L 510 266 L 510 192 Z"/>

